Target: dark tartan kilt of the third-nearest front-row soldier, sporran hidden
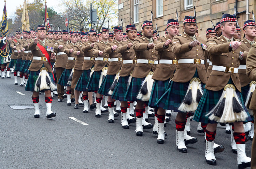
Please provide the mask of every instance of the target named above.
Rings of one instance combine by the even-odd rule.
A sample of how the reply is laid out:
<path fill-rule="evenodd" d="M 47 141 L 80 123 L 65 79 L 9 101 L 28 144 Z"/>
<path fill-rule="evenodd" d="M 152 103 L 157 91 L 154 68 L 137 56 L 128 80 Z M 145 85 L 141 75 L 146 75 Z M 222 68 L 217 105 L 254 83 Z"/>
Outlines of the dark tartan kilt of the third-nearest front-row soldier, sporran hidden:
<path fill-rule="evenodd" d="M 157 108 L 158 105 L 156 104 L 160 97 L 165 93 L 170 80 L 166 81 L 158 81 L 156 80 L 153 84 L 153 88 L 150 95 L 150 100 L 148 105 L 152 108 Z"/>

